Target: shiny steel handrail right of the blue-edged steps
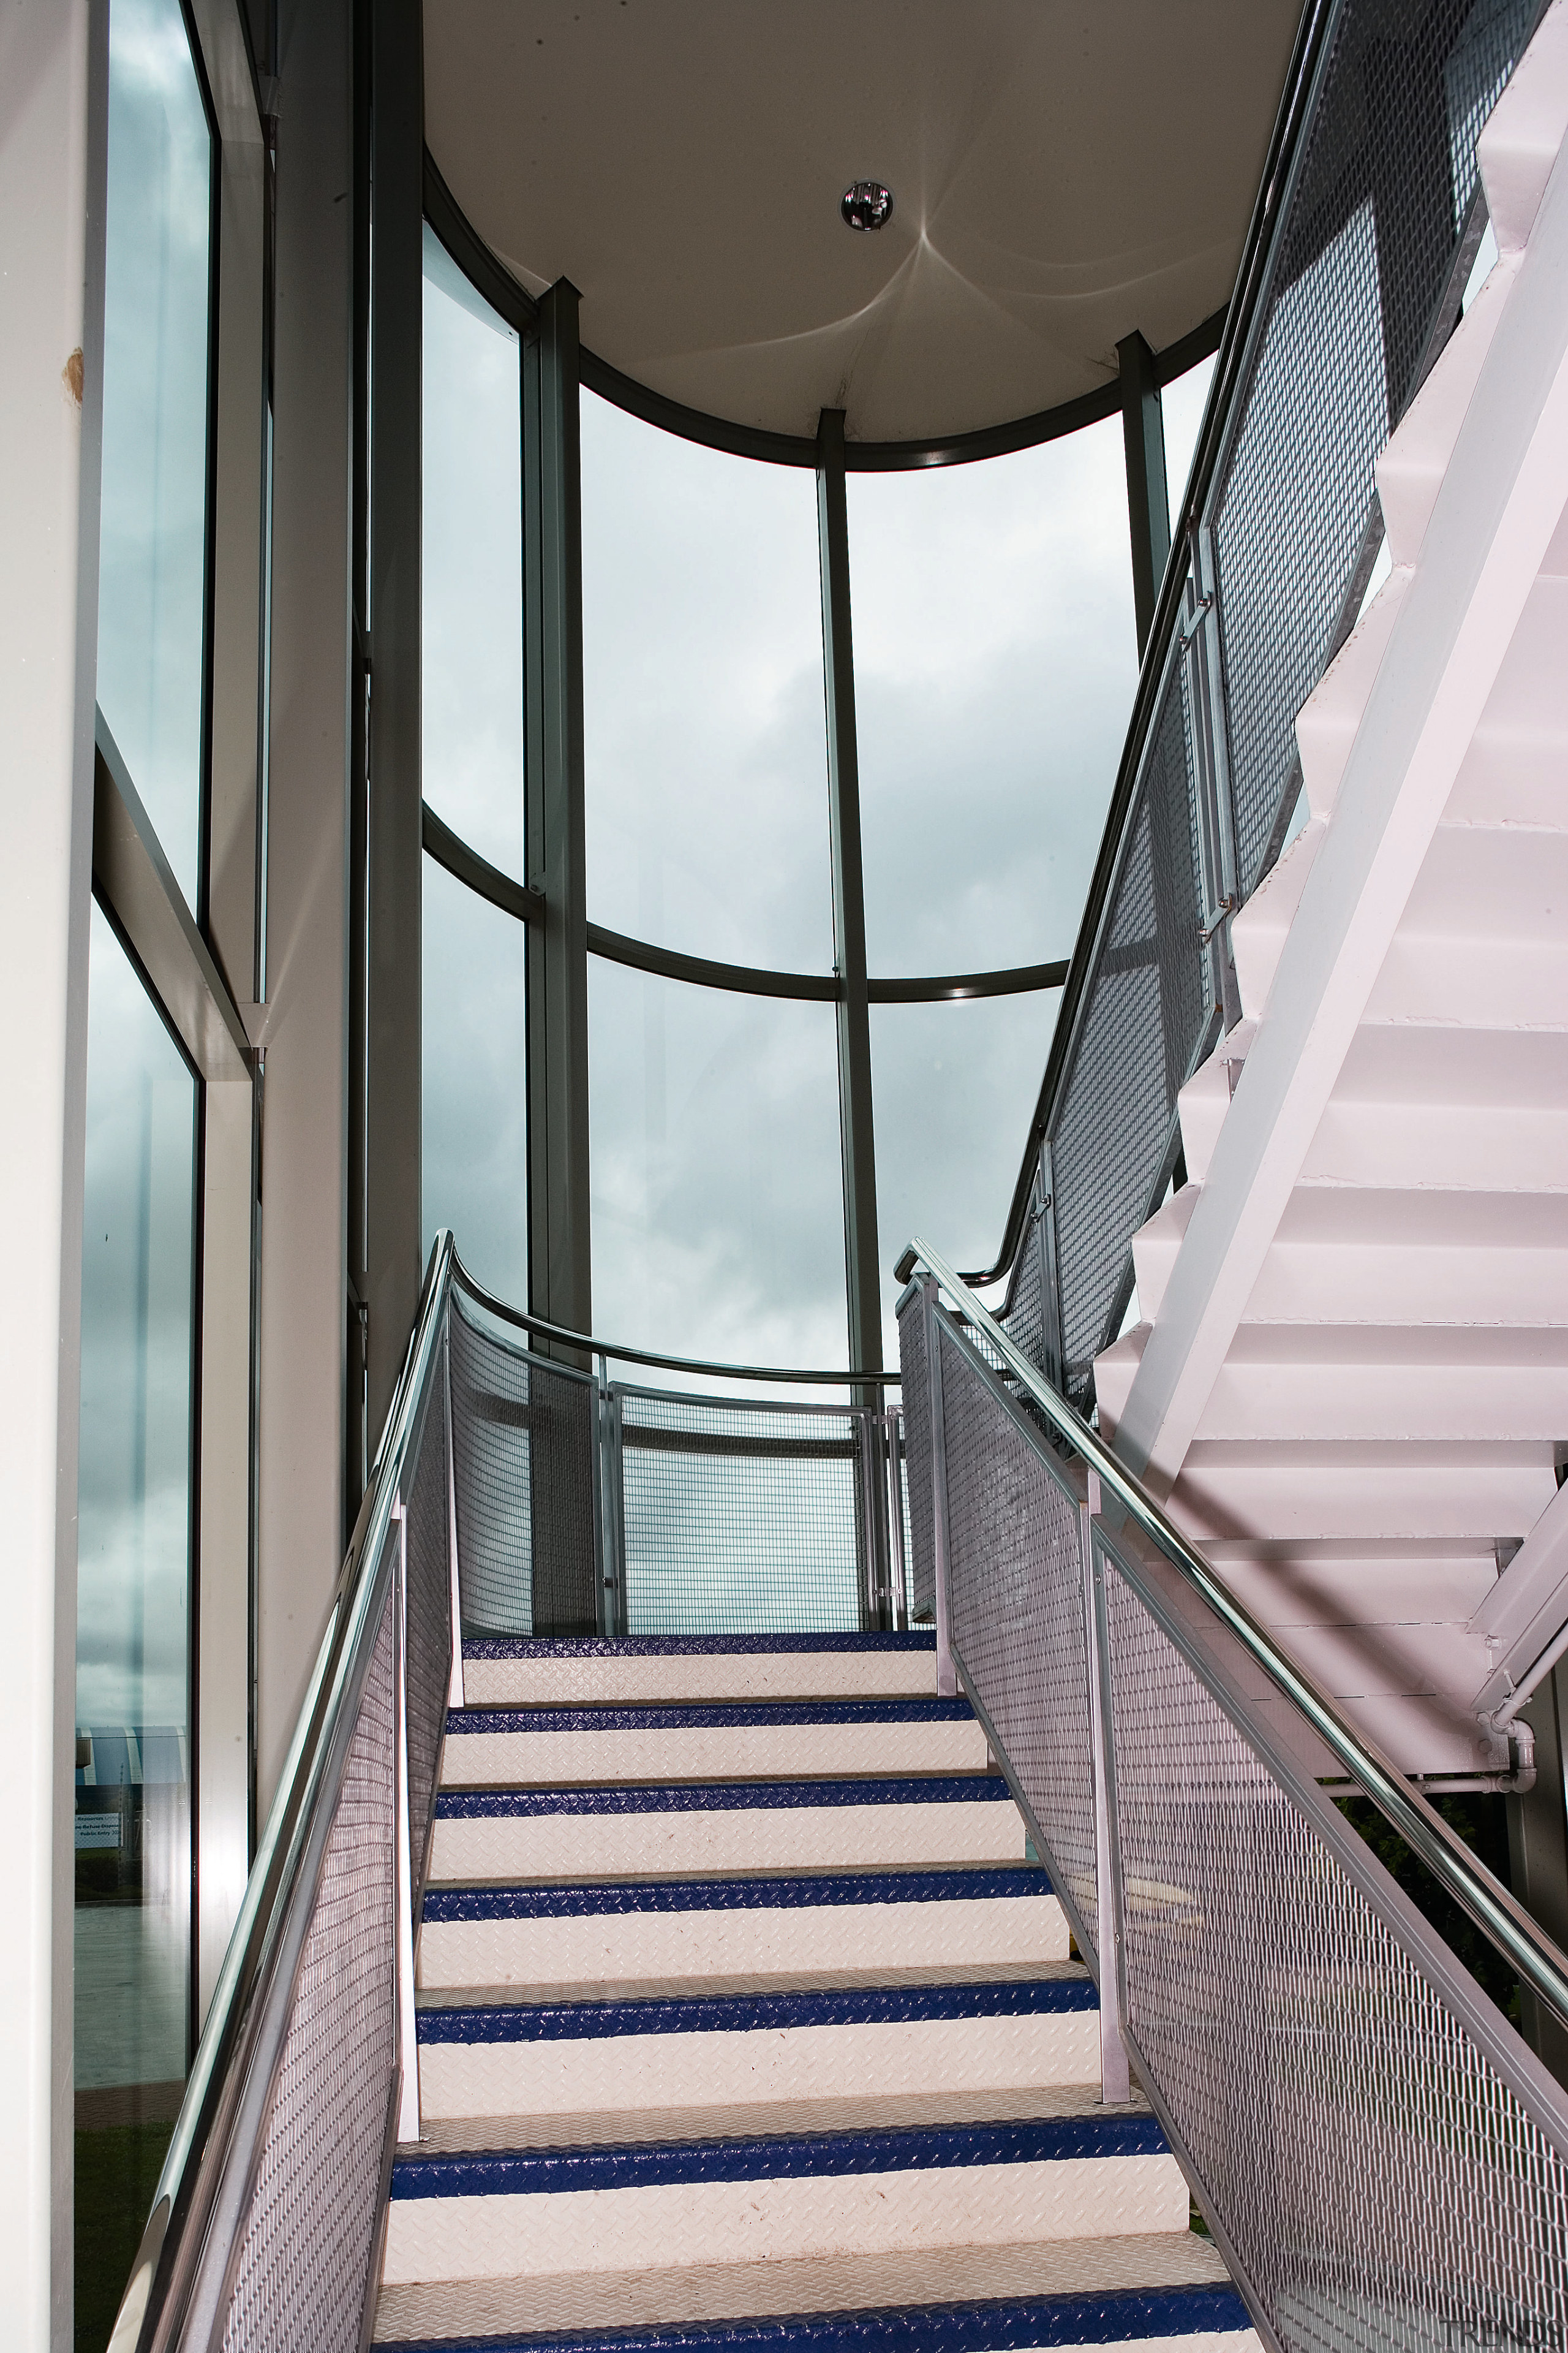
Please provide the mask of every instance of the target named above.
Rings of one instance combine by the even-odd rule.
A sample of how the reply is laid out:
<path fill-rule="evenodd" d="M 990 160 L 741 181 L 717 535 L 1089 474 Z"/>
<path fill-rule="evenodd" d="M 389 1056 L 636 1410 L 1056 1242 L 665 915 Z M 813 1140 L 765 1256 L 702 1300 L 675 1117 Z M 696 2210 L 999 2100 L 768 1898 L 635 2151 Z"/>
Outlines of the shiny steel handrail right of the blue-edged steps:
<path fill-rule="evenodd" d="M 1286 1657 L 1267 1626 L 1227 1591 L 1204 1555 L 1166 1518 L 1143 1480 L 1126 1464 L 1117 1461 L 1105 1440 L 1030 1365 L 1027 1355 L 1009 1339 L 997 1318 L 976 1299 L 969 1282 L 917 1235 L 898 1259 L 898 1280 L 907 1282 L 919 1266 L 936 1275 L 964 1320 L 985 1334 L 987 1348 L 1001 1358 L 1011 1379 L 1018 1381 L 1051 1428 L 1098 1473 L 1103 1487 L 1117 1497 L 1133 1525 L 1199 1595 L 1215 1624 L 1241 1645 L 1248 1659 L 1298 1708 L 1352 1781 L 1366 1791 L 1382 1819 L 1427 1866 L 1439 1887 L 1453 1897 L 1460 1911 L 1502 1953 L 1521 1984 L 1568 2026 L 1568 1955 L 1561 1946 L 1535 1925 L 1509 1889 L 1448 1828 L 1443 1817 L 1410 1788 L 1394 1760 L 1363 1732 L 1354 1729 L 1321 1682 Z"/>

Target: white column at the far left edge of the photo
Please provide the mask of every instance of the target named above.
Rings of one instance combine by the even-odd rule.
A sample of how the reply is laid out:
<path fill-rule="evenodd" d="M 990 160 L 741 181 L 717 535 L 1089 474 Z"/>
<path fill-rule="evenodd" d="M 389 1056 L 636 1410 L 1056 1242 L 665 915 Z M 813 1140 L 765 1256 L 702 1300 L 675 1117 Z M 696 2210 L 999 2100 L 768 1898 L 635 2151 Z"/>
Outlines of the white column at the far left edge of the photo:
<path fill-rule="evenodd" d="M 71 2344 L 75 1447 L 108 9 L 0 16 L 0 2280 Z M 82 351 L 87 358 L 82 360 Z"/>

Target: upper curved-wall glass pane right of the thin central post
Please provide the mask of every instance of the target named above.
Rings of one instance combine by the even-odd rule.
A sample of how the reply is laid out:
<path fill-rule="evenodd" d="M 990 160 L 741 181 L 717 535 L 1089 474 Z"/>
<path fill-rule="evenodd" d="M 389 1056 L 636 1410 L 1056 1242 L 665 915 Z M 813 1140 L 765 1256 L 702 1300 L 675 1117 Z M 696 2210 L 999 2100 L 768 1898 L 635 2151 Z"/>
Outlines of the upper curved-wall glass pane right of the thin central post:
<path fill-rule="evenodd" d="M 1121 419 L 851 473 L 875 974 L 1067 955 L 1138 680 Z"/>

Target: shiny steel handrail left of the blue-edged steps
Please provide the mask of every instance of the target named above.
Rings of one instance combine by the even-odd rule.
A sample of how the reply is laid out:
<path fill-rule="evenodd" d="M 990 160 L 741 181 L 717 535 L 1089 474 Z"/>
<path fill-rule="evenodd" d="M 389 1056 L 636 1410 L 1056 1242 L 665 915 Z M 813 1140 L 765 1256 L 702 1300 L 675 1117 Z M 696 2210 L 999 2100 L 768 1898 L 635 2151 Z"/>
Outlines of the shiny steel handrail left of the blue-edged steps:
<path fill-rule="evenodd" d="M 348 1555 L 327 1607 L 315 1668 L 294 1725 L 240 1915 L 212 1995 L 186 2097 L 165 2158 L 153 2214 L 141 2235 L 132 2278 L 120 2301 L 110 2353 L 165 2353 L 197 2287 L 202 2240 L 237 2139 L 240 2104 L 268 2019 L 289 2002 L 292 1986 L 277 1967 L 296 1901 L 306 1899 L 313 1828 L 329 1800 L 327 1777 L 336 1734 L 355 1704 L 360 1668 L 378 1614 L 376 1569 L 397 1501 L 409 1440 L 437 1362 L 454 1268 L 451 1233 L 430 1249 L 418 1318 L 397 1377 L 369 1487 Z"/>

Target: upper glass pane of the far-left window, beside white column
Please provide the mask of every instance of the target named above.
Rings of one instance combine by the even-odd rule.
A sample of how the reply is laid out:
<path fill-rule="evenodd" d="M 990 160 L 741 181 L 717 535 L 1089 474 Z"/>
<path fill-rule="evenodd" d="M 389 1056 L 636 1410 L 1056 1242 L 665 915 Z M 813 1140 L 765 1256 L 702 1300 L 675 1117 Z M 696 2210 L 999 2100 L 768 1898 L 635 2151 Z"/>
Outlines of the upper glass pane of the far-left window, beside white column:
<path fill-rule="evenodd" d="M 108 16 L 99 704 L 195 908 L 212 134 L 179 0 Z"/>

